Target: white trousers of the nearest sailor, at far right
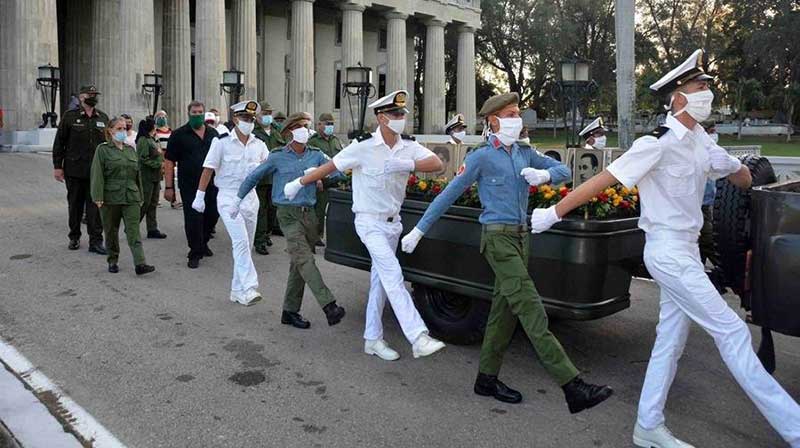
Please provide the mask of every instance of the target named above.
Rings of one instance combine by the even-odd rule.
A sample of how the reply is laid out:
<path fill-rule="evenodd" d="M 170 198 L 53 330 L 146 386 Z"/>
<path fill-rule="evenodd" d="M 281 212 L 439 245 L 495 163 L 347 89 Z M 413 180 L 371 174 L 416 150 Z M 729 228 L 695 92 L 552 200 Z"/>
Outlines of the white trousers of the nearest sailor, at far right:
<path fill-rule="evenodd" d="M 800 406 L 762 367 L 747 325 L 706 276 L 697 242 L 658 236 L 648 235 L 644 249 L 647 270 L 661 287 L 661 312 L 638 423 L 645 429 L 664 423 L 664 404 L 694 321 L 714 338 L 728 370 L 772 427 L 793 448 L 800 448 Z"/>

